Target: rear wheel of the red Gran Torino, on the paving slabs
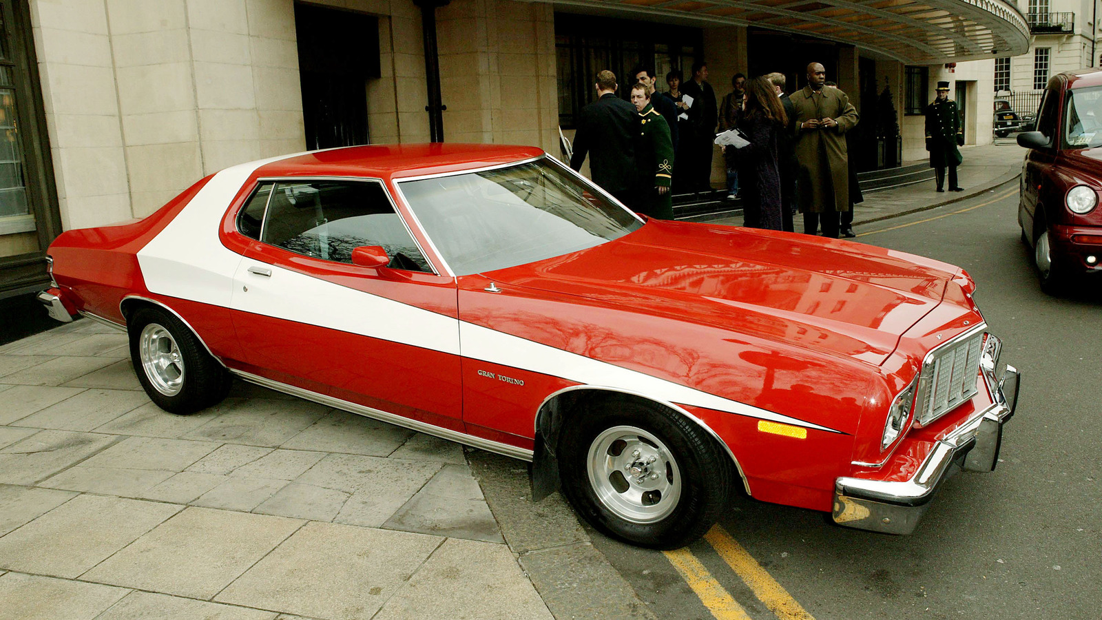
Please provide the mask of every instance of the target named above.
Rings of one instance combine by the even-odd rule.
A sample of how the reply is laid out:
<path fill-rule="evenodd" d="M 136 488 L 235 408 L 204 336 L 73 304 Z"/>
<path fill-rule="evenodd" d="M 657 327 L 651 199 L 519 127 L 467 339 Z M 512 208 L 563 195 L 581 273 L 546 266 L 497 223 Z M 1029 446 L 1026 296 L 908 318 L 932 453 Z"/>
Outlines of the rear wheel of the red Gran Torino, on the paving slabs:
<path fill-rule="evenodd" d="M 150 399 L 187 415 L 222 402 L 233 382 L 226 368 L 171 312 L 139 308 L 127 321 L 130 360 Z"/>

